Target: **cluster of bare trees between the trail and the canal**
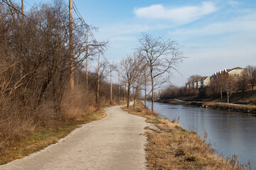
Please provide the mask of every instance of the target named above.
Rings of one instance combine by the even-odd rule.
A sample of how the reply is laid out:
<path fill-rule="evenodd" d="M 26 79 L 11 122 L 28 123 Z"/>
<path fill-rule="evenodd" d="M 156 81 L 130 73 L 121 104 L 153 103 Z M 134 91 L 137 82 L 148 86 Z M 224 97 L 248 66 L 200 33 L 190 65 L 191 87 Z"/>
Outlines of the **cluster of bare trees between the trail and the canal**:
<path fill-rule="evenodd" d="M 142 33 L 136 51 L 120 63 L 122 79 L 127 86 L 127 107 L 131 91 L 134 104 L 141 91 L 144 91 L 144 106 L 146 107 L 146 99 L 151 94 L 153 112 L 154 91 L 169 81 L 171 73 L 176 71 L 184 58 L 174 40 Z"/>

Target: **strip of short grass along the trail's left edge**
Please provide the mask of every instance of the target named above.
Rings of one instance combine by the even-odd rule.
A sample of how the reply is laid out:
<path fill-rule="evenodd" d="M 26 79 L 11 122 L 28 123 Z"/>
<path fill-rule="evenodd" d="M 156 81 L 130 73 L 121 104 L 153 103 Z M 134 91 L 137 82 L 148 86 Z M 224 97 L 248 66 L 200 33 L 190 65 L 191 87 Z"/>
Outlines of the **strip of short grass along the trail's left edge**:
<path fill-rule="evenodd" d="M 84 123 L 105 118 L 107 114 L 103 109 L 89 115 L 82 116 L 77 120 L 68 123 L 58 123 L 58 125 L 36 128 L 33 132 L 22 140 L 13 140 L 1 151 L 0 164 L 6 164 L 14 159 L 19 159 L 36 152 L 50 144 L 57 142 L 60 138 L 67 136 L 75 128 L 79 128 Z"/>

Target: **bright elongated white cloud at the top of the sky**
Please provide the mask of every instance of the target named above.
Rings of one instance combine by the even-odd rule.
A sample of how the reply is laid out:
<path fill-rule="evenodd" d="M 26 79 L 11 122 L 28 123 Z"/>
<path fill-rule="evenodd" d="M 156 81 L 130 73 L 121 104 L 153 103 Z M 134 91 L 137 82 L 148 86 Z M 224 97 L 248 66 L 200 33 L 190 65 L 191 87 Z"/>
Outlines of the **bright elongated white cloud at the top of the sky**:
<path fill-rule="evenodd" d="M 196 21 L 202 16 L 217 11 L 216 6 L 208 1 L 202 2 L 201 6 L 183 6 L 168 8 L 162 4 L 148 7 L 135 8 L 134 13 L 139 18 L 165 19 L 174 23 L 189 23 Z"/>

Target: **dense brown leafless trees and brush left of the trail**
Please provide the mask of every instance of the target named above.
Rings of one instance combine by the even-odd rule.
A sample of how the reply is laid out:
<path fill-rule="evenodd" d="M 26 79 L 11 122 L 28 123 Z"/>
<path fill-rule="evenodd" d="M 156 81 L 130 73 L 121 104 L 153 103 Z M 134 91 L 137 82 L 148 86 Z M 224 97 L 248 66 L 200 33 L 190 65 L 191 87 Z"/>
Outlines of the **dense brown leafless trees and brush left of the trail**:
<path fill-rule="evenodd" d="M 97 28 L 74 18 L 70 57 L 67 6 L 55 0 L 25 11 L 23 0 L 21 5 L 0 2 L 0 153 L 34 127 L 72 121 L 110 103 L 110 63 L 100 62 L 98 55 L 107 50 L 107 41 L 96 40 Z M 98 67 L 92 67 L 91 60 L 98 61 Z M 112 86 L 113 102 L 119 103 L 124 91 Z"/>

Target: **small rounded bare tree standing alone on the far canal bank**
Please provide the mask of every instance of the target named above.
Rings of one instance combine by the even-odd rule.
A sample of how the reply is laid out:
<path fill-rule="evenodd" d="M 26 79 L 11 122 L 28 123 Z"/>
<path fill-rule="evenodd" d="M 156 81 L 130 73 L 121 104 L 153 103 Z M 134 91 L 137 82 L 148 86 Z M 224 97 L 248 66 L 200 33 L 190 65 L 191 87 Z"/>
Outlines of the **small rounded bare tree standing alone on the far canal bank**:
<path fill-rule="evenodd" d="M 227 93 L 228 104 L 230 103 L 230 96 L 234 94 L 234 92 L 237 89 L 237 85 L 238 85 L 237 81 L 233 77 L 231 76 L 226 77 L 224 89 L 225 89 L 225 92 Z"/>

